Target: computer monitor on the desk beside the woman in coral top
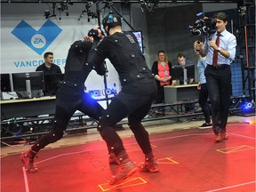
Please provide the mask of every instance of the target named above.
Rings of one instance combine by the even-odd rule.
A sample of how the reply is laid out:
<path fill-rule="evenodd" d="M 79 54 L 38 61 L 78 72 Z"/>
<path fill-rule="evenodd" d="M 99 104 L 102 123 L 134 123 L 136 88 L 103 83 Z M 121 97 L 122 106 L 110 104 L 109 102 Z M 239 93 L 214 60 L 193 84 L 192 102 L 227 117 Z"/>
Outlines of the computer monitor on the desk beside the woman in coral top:
<path fill-rule="evenodd" d="M 194 64 L 172 66 L 172 80 L 180 80 L 180 84 L 189 84 L 190 79 L 195 79 Z"/>

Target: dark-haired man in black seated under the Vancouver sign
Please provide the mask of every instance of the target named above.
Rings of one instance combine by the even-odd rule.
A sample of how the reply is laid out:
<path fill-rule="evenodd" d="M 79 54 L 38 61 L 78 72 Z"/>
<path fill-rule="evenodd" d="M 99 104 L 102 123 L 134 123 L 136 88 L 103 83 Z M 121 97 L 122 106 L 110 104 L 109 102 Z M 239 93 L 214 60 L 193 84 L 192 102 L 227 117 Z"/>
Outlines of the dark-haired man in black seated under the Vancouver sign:
<path fill-rule="evenodd" d="M 58 65 L 52 63 L 53 52 L 44 53 L 44 63 L 36 68 L 36 71 L 44 72 L 44 96 L 56 95 L 63 76 Z"/>

